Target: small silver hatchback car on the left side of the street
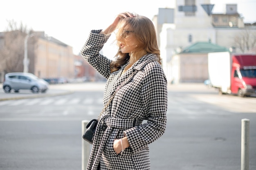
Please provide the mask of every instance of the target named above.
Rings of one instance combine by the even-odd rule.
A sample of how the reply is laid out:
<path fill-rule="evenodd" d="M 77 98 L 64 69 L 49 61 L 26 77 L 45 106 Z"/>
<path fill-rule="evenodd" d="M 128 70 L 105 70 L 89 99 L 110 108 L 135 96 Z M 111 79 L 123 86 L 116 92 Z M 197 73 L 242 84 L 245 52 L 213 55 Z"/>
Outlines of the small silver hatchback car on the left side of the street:
<path fill-rule="evenodd" d="M 36 77 L 32 73 L 7 73 L 4 76 L 3 89 L 5 93 L 10 93 L 13 89 L 18 93 L 20 89 L 28 89 L 33 93 L 45 93 L 49 83 Z"/>

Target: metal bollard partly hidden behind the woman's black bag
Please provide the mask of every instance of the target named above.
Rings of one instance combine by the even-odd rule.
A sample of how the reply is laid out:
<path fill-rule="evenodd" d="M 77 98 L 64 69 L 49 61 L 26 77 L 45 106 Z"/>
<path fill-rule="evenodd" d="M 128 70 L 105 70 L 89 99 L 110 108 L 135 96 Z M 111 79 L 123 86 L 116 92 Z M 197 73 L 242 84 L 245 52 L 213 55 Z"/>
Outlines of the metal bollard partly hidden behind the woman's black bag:
<path fill-rule="evenodd" d="M 88 120 L 82 121 L 82 136 L 85 132 L 85 126 L 89 123 Z M 81 136 L 81 137 L 82 137 Z M 91 152 L 91 144 L 89 144 L 87 141 L 83 140 L 82 138 L 82 170 L 86 170 L 86 167 L 88 165 L 89 157 Z"/>

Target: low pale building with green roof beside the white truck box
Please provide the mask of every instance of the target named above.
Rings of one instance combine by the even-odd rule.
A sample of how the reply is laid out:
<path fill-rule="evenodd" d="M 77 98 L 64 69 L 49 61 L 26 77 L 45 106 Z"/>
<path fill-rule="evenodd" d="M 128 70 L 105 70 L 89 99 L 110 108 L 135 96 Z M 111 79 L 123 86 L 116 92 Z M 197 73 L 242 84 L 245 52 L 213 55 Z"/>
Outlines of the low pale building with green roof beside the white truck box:
<path fill-rule="evenodd" d="M 173 55 L 169 62 L 172 83 L 204 82 L 208 79 L 208 53 L 224 51 L 229 49 L 211 42 L 197 42 Z"/>

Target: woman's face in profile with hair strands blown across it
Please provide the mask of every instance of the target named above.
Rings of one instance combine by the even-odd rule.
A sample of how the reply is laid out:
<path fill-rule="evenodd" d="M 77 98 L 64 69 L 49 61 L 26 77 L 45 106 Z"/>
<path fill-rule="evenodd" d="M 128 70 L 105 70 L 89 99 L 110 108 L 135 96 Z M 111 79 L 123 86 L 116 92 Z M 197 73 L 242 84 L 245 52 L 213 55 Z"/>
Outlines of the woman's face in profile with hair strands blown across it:
<path fill-rule="evenodd" d="M 139 42 L 135 38 L 131 26 L 127 25 L 121 31 L 119 46 L 122 53 L 135 53 L 139 47 Z"/>

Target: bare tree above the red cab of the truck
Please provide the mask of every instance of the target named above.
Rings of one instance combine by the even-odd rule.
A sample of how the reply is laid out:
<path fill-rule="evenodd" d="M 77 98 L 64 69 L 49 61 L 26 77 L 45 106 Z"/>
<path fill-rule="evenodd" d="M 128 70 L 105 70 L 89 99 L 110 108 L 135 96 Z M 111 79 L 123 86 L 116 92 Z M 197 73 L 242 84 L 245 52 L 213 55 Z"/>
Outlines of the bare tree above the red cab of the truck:
<path fill-rule="evenodd" d="M 240 31 L 234 38 L 234 44 L 242 53 L 253 49 L 256 44 L 256 30 L 246 28 Z"/>

